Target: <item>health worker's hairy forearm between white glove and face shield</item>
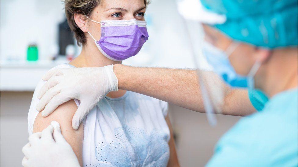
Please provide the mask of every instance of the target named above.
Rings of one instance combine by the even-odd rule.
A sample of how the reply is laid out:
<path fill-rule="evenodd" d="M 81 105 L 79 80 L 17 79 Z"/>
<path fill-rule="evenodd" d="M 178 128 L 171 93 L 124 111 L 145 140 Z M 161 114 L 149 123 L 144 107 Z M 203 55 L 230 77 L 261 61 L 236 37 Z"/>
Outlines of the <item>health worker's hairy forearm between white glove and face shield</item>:
<path fill-rule="evenodd" d="M 204 112 L 196 71 L 114 65 L 118 88 Z"/>

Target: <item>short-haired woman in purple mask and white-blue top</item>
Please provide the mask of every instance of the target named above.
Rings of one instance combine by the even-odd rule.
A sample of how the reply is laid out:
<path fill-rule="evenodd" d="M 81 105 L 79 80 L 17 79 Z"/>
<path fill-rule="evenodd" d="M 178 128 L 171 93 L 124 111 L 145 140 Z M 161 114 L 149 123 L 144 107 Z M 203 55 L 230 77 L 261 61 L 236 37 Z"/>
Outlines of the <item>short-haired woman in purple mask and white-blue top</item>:
<path fill-rule="evenodd" d="M 82 51 L 69 64 L 55 68 L 105 66 L 110 70 L 111 64 L 137 54 L 148 39 L 146 5 L 146 0 L 66 0 L 67 20 Z M 110 80 L 117 82 L 115 76 Z M 41 85 L 43 82 L 35 92 Z M 111 90 L 78 130 L 71 126 L 74 112 L 80 105 L 90 104 L 70 100 L 44 118 L 35 109 L 39 101 L 35 93 L 28 115 L 29 132 L 42 131 L 56 120 L 83 166 L 179 166 L 167 103 L 117 88 Z"/>

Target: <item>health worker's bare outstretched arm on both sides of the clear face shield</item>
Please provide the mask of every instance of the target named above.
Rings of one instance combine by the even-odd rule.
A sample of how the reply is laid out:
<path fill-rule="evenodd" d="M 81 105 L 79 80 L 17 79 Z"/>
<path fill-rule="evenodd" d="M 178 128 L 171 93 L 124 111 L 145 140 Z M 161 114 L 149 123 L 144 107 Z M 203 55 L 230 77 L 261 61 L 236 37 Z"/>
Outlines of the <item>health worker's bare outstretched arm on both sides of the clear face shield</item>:
<path fill-rule="evenodd" d="M 204 72 L 204 71 L 203 71 Z M 206 71 L 209 72 L 209 71 Z M 114 65 L 118 88 L 151 96 L 177 106 L 205 113 L 195 70 L 141 68 Z M 222 114 L 246 116 L 256 110 L 244 89 L 230 89 L 224 98 Z"/>

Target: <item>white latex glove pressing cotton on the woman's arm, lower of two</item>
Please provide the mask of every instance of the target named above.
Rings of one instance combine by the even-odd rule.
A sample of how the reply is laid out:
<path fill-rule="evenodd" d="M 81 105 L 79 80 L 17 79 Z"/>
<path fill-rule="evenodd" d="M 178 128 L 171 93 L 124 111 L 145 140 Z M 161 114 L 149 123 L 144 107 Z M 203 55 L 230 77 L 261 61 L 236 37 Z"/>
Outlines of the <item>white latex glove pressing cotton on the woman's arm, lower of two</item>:
<path fill-rule="evenodd" d="M 23 147 L 22 151 L 25 155 L 22 161 L 24 167 L 80 166 L 56 121 L 52 121 L 51 125 L 42 132 L 31 134 L 29 143 Z"/>

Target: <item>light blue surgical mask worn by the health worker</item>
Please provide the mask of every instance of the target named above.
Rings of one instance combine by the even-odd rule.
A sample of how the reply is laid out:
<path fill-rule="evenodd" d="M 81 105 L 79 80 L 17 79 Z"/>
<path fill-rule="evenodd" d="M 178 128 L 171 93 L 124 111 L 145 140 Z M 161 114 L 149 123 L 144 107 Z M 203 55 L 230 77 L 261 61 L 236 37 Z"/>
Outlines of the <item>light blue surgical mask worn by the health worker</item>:
<path fill-rule="evenodd" d="M 214 71 L 220 75 L 223 80 L 231 87 L 241 87 L 254 89 L 254 75 L 260 68 L 261 63 L 256 62 L 247 76 L 236 73 L 229 61 L 229 56 L 236 50 L 239 43 L 231 43 L 227 50 L 220 50 L 211 43 L 205 42 L 203 46 L 203 54 L 208 63 L 214 68 Z"/>

